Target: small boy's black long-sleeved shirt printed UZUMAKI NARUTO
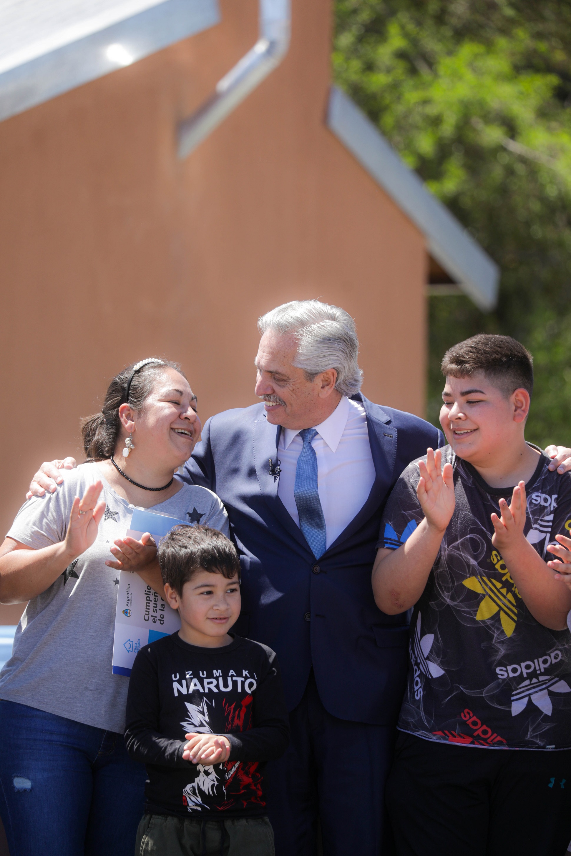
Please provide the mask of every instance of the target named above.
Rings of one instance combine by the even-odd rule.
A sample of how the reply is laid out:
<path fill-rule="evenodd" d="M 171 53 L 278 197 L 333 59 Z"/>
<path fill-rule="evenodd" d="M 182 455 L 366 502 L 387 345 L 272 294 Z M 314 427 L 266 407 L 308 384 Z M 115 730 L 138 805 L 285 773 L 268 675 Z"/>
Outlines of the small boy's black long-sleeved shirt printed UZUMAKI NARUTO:
<path fill-rule="evenodd" d="M 223 648 L 188 645 L 173 633 L 141 648 L 127 700 L 125 740 L 146 764 L 146 811 L 220 816 L 265 814 L 265 762 L 288 746 L 288 710 L 274 651 L 235 636 Z M 225 734 L 228 761 L 182 758 L 184 735 Z"/>

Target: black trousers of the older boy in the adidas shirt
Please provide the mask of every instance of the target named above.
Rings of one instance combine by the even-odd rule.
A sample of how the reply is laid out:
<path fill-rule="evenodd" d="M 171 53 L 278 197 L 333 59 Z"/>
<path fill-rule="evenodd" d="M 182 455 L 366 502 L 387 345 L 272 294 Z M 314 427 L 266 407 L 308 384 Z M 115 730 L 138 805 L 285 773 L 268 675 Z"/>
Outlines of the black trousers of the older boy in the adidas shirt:
<path fill-rule="evenodd" d="M 486 749 L 400 732 L 387 804 L 398 856 L 564 856 L 571 749 Z"/>

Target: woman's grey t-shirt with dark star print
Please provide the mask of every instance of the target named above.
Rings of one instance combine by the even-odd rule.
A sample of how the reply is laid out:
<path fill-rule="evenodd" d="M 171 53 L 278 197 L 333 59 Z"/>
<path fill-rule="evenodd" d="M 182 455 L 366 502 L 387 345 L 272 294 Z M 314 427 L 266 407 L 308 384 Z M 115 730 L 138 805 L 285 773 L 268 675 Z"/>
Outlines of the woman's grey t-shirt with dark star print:
<path fill-rule="evenodd" d="M 74 497 L 98 479 L 104 485 L 104 518 L 89 550 L 27 604 L 12 657 L 0 672 L 0 698 L 122 734 L 128 678 L 111 672 L 119 574 L 105 560 L 112 558 L 115 539 L 126 534 L 134 507 L 116 494 L 97 464 L 62 470 L 62 478 L 54 494 L 24 503 L 9 538 L 34 550 L 62 541 Z M 152 511 L 229 535 L 222 502 L 204 487 L 183 484 Z"/>

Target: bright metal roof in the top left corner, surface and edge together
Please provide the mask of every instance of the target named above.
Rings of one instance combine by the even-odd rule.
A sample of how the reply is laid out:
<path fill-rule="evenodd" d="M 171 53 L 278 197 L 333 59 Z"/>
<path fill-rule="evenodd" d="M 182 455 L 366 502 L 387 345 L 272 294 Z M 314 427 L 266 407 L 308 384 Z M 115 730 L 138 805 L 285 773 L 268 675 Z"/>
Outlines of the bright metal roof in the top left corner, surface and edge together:
<path fill-rule="evenodd" d="M 0 120 L 219 20 L 217 0 L 0 0 Z"/>

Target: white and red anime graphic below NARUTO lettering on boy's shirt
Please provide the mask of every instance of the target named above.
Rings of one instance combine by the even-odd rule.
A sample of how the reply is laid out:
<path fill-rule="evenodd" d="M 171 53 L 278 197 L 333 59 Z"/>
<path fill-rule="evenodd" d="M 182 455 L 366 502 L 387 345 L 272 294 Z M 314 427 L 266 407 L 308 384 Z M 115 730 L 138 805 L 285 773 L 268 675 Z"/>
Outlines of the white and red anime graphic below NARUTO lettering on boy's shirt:
<path fill-rule="evenodd" d="M 210 724 L 209 707 L 214 707 L 216 699 L 209 701 L 202 699 L 200 704 L 184 703 L 187 708 L 187 717 L 181 722 L 184 734 L 195 732 L 196 734 L 213 734 Z M 251 728 L 249 720 L 252 715 L 253 696 L 248 693 L 237 704 L 229 704 L 226 698 L 222 699 L 224 715 L 224 733 L 232 731 L 243 731 Z M 203 766 L 197 764 L 196 777 L 193 782 L 187 784 L 182 791 L 182 804 L 188 811 L 210 811 L 211 806 L 206 805 L 203 797 L 222 796 L 224 802 L 220 810 L 229 808 L 245 807 L 249 803 L 265 805 L 262 800 L 262 777 L 258 772 L 257 761 L 227 761 L 224 764 L 213 764 Z"/>

